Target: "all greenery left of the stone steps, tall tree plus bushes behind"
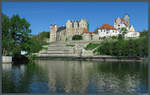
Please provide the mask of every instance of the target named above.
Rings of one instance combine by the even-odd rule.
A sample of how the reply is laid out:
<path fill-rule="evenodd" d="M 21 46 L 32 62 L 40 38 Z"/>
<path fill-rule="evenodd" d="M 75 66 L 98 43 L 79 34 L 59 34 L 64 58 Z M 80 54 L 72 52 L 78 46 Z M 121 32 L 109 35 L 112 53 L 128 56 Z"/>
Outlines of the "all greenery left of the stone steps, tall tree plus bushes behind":
<path fill-rule="evenodd" d="M 2 14 L 2 55 L 19 56 L 21 51 L 27 55 L 39 51 L 46 43 L 44 38 L 49 37 L 48 32 L 42 32 L 37 36 L 31 35 L 30 24 L 19 15 L 11 18 Z"/>

